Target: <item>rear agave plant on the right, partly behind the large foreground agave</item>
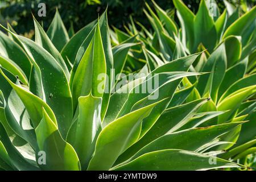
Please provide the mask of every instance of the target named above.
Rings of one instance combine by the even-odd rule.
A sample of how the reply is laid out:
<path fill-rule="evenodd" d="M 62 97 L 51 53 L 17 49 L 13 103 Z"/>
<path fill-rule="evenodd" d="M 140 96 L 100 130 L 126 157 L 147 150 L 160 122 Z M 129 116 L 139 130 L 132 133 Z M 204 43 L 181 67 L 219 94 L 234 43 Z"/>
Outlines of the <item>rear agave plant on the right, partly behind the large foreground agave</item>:
<path fill-rule="evenodd" d="M 189 71 L 209 74 L 183 80 L 188 86 L 195 85 L 187 102 L 210 97 L 212 101 L 201 111 L 229 110 L 220 115 L 216 123 L 249 121 L 227 134 L 225 139 L 222 138 L 236 144 L 218 147 L 219 150 L 230 150 L 223 155 L 225 159 L 241 158 L 240 161 L 246 163 L 248 154 L 255 156 L 255 7 L 239 17 L 239 9 L 225 1 L 226 10 L 220 15 L 216 2 L 201 1 L 195 15 L 182 1 L 175 0 L 179 27 L 174 21 L 174 13 L 170 15 L 154 1 L 152 3 L 156 13 L 148 5 L 149 13 L 146 10 L 144 13 L 154 32 L 137 22 L 141 27 L 141 31 L 138 31 L 131 19 L 129 28 L 126 28 L 127 37 L 138 34 L 137 39 L 144 44 L 141 54 L 150 70 L 191 53 L 204 51 L 192 63 Z M 210 3 L 215 5 L 212 8 L 216 14 L 210 11 Z M 120 33 L 116 34 L 118 37 Z M 251 155 L 248 158 L 253 161 Z"/>

